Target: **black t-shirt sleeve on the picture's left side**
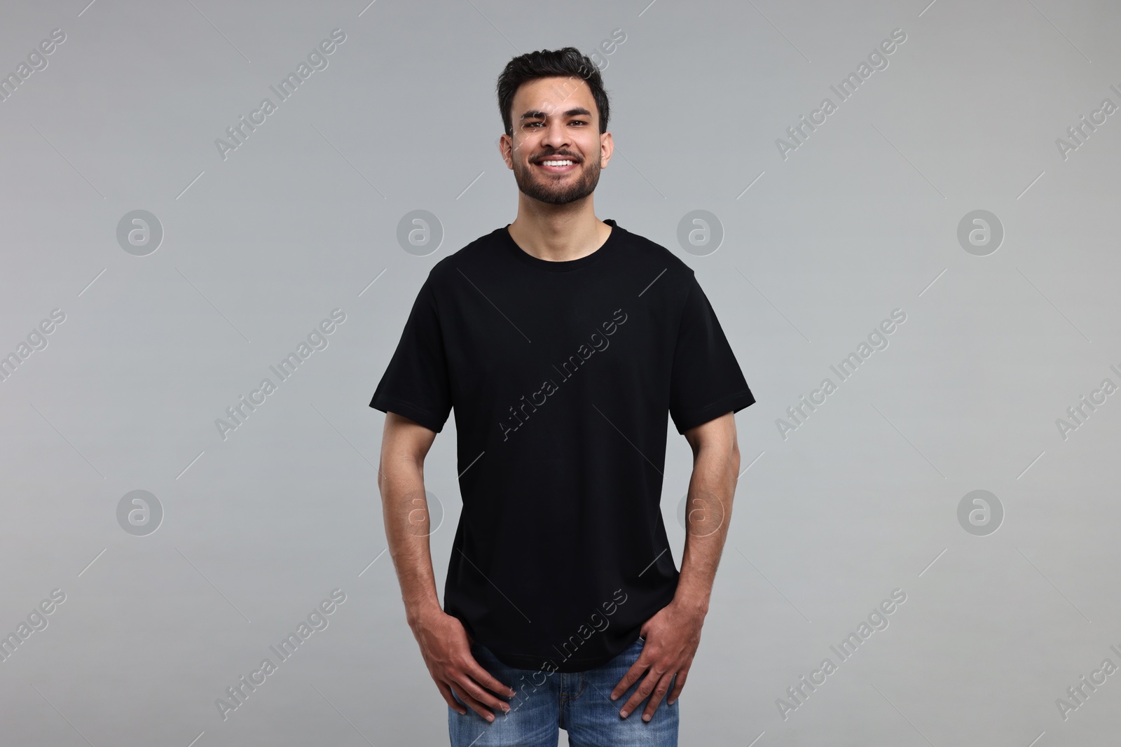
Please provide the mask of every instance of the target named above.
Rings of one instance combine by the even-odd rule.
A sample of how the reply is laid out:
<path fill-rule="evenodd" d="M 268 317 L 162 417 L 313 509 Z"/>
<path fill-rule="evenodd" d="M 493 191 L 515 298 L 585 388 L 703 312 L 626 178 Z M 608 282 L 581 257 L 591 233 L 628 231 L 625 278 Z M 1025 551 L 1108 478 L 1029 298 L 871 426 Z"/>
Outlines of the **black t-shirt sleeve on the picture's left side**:
<path fill-rule="evenodd" d="M 452 387 L 432 276 L 417 292 L 401 339 L 370 407 L 405 415 L 437 433 L 447 421 Z"/>

